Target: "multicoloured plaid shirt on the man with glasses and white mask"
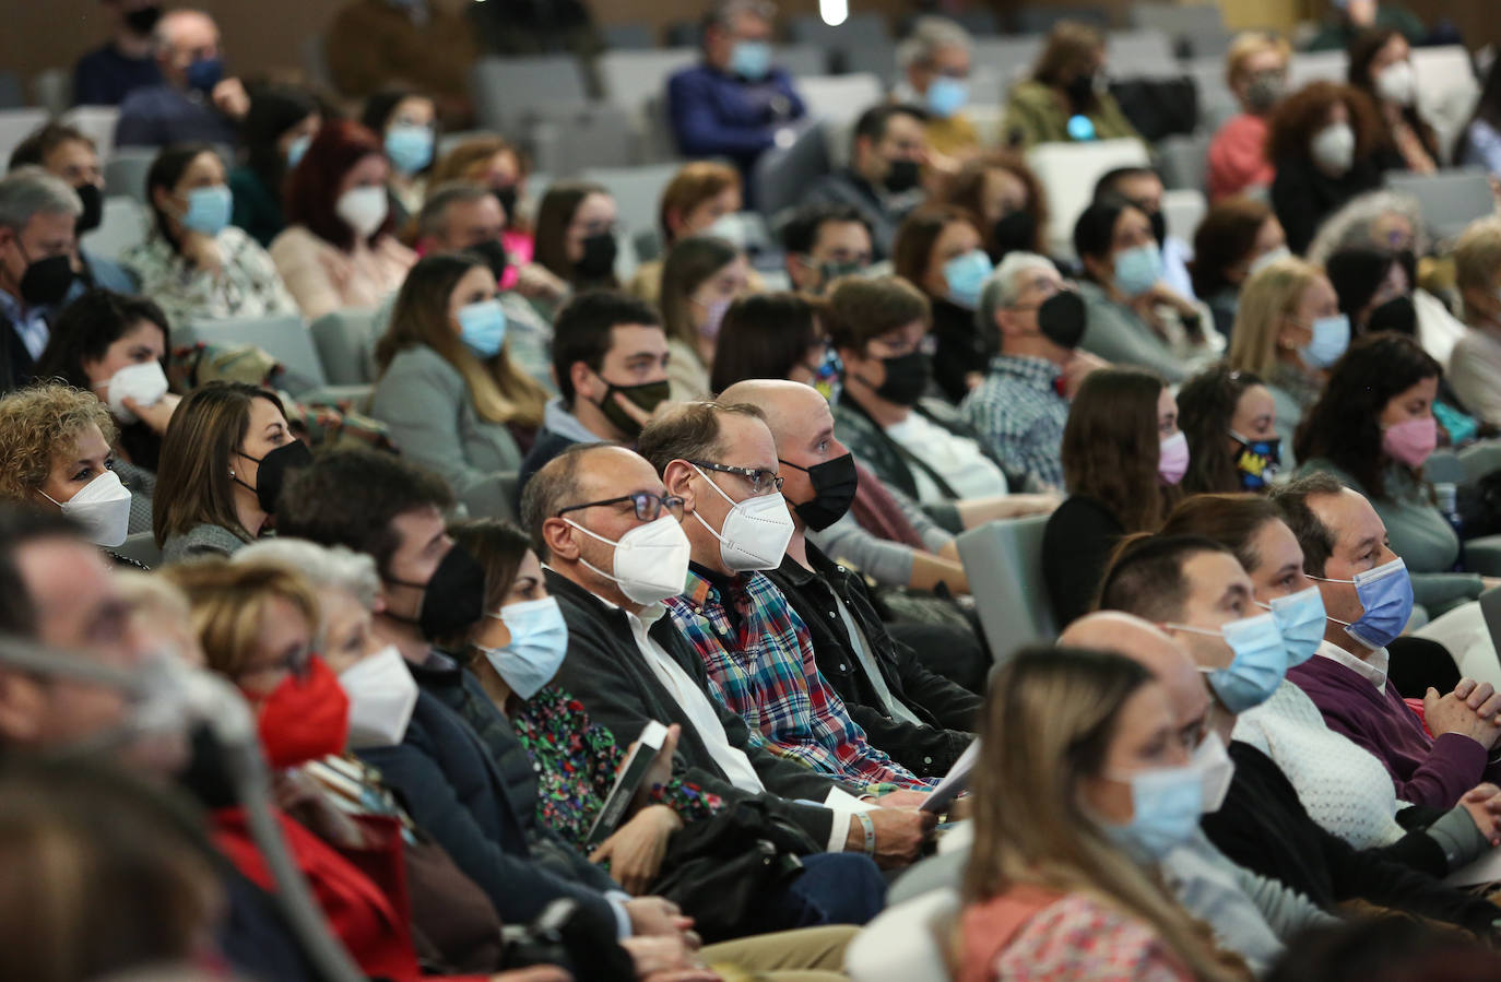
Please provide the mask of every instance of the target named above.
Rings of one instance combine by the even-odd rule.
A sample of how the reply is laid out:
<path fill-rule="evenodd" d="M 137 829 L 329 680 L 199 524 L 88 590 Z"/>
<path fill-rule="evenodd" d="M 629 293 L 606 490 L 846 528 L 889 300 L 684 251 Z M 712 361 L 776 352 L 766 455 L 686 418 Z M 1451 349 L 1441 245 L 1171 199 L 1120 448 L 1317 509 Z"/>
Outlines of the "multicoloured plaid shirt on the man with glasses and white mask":
<path fill-rule="evenodd" d="M 818 673 L 808 628 L 770 580 L 737 577 L 732 593 L 690 568 L 687 589 L 666 610 L 704 662 L 710 694 L 746 721 L 757 745 L 875 791 L 931 787 L 866 742 Z"/>

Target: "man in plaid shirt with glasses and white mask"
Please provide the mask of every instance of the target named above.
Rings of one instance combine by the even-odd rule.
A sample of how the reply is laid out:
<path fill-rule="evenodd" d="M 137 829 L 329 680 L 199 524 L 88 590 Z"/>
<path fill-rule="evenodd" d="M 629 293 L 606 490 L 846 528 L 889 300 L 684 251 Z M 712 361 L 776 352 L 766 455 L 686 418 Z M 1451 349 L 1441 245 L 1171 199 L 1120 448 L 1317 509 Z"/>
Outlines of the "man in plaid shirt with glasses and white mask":
<path fill-rule="evenodd" d="M 690 404 L 650 423 L 639 452 L 684 502 L 693 562 L 686 590 L 666 605 L 702 661 L 714 698 L 781 757 L 872 790 L 926 788 L 866 742 L 820 674 L 808 628 L 757 572 L 782 562 L 793 529 L 776 443 L 761 411 Z"/>

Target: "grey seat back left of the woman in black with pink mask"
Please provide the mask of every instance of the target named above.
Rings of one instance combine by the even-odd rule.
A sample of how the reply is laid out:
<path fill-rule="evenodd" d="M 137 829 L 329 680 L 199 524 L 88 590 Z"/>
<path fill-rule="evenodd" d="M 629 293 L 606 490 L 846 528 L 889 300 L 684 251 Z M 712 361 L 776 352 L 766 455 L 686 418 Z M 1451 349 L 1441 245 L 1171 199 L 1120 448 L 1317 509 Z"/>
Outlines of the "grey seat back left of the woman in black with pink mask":
<path fill-rule="evenodd" d="M 1042 536 L 1046 515 L 992 521 L 956 539 L 964 574 L 974 596 L 991 658 L 1004 665 L 1024 644 L 1051 641 L 1058 634 L 1042 578 Z"/>

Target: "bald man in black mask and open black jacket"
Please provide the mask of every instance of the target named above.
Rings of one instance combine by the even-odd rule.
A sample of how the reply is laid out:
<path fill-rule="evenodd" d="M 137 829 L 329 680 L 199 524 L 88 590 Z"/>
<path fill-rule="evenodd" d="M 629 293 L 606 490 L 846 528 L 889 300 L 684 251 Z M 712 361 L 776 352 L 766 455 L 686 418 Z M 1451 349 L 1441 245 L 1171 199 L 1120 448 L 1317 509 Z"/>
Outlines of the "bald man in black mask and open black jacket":
<path fill-rule="evenodd" d="M 766 575 L 808 625 L 818 671 L 872 743 L 916 773 L 947 773 L 974 739 L 980 697 L 928 670 L 887 632 L 860 578 L 808 541 L 811 526 L 830 526 L 854 500 L 854 458 L 835 437 L 829 401 L 779 378 L 738 381 L 720 399 L 760 408 L 776 441 L 793 538 Z"/>

